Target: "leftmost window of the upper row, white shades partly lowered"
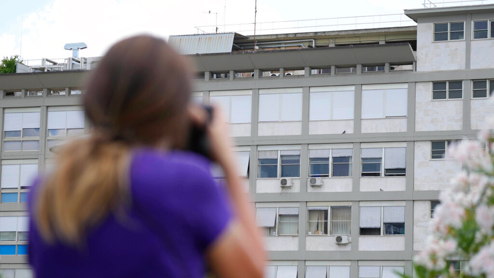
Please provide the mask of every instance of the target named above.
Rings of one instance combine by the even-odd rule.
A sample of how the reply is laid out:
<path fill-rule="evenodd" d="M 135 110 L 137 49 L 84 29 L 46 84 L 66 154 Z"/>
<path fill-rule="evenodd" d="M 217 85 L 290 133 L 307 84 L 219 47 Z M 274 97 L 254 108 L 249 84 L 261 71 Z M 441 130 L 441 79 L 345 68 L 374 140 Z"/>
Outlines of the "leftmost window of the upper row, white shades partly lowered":
<path fill-rule="evenodd" d="M 6 112 L 3 115 L 3 150 L 40 148 L 40 112 Z"/>

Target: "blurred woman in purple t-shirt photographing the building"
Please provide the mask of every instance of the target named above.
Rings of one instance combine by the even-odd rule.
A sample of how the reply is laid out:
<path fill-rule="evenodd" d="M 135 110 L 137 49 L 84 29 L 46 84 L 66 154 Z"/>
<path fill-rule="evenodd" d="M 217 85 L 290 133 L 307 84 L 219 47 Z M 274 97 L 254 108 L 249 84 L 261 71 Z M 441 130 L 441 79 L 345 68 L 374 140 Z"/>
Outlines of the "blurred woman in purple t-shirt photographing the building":
<path fill-rule="evenodd" d="M 262 277 L 260 236 L 219 111 L 206 132 L 226 188 L 210 161 L 183 150 L 190 126 L 207 117 L 190 99 L 187 63 L 163 40 L 111 47 L 83 95 L 91 136 L 60 147 L 30 196 L 37 278 L 199 278 L 206 265 L 219 277 Z"/>

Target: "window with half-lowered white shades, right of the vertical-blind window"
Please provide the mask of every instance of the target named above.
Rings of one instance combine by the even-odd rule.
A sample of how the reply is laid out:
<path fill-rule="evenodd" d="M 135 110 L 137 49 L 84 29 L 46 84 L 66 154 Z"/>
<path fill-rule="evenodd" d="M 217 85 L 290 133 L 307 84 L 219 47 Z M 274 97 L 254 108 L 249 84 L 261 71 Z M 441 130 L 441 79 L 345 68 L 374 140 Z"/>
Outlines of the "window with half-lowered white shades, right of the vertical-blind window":
<path fill-rule="evenodd" d="M 360 235 L 392 234 L 405 234 L 404 206 L 360 207 Z"/>

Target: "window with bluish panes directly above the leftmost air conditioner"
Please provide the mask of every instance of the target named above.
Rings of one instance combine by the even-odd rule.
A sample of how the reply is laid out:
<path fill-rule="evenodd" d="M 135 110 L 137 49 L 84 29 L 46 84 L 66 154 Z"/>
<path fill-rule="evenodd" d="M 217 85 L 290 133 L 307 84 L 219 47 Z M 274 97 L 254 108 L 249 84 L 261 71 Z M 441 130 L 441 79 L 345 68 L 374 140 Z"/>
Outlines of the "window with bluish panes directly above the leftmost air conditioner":
<path fill-rule="evenodd" d="M 259 178 L 300 177 L 300 150 L 259 151 L 257 156 Z"/>

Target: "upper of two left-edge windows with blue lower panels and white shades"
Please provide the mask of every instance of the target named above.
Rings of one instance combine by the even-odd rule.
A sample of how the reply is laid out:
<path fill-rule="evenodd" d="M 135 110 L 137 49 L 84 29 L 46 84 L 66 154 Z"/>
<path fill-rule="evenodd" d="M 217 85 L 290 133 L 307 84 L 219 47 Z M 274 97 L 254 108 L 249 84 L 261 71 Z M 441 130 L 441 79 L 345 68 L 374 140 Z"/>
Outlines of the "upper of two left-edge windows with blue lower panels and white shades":
<path fill-rule="evenodd" d="M 38 160 L 2 160 L 0 175 L 0 202 L 25 203 L 29 188 L 38 176 Z"/>

